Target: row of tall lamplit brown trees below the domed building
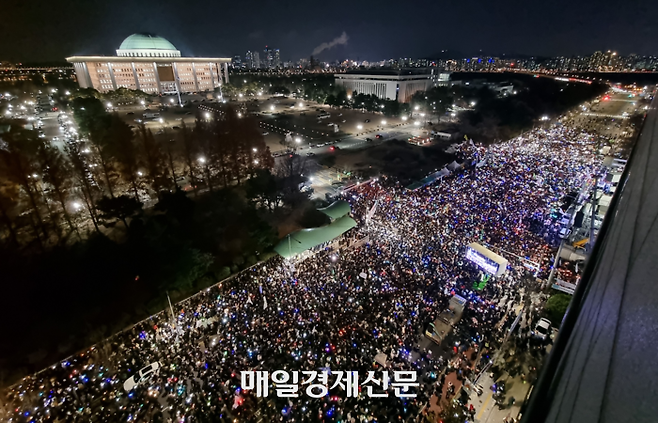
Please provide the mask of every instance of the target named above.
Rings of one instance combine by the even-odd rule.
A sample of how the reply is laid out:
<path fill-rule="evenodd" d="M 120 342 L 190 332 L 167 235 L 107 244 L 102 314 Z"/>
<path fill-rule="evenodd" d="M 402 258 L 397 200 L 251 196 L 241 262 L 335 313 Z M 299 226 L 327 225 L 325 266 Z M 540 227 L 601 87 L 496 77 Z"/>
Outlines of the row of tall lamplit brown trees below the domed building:
<path fill-rule="evenodd" d="M 80 237 L 85 222 L 96 231 L 107 220 L 125 223 L 180 185 L 212 192 L 274 165 L 258 126 L 231 108 L 160 137 L 144 122 L 131 128 L 96 97 L 70 108 L 79 133 L 63 149 L 14 122 L 0 135 L 0 227 L 12 246 L 43 250 Z"/>

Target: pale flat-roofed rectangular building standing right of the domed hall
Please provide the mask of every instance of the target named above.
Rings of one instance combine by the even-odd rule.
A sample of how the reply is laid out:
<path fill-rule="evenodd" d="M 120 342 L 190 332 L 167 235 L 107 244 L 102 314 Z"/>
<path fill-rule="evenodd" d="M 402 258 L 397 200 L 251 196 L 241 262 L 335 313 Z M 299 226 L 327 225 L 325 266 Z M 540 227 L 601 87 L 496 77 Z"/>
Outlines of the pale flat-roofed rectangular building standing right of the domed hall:
<path fill-rule="evenodd" d="M 336 85 L 349 95 L 374 94 L 378 98 L 407 103 L 418 91 L 432 84 L 428 69 L 364 70 L 335 74 Z"/>

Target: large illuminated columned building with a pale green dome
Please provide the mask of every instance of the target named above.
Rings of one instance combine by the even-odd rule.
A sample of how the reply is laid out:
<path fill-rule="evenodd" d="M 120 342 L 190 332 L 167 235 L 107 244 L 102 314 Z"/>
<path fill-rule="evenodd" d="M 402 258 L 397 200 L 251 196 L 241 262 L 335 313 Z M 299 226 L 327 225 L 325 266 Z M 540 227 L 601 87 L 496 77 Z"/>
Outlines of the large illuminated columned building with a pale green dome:
<path fill-rule="evenodd" d="M 149 94 L 212 91 L 228 83 L 230 58 L 181 57 L 169 41 L 153 34 L 133 34 L 116 56 L 73 56 L 80 88 L 100 92 L 129 88 Z"/>

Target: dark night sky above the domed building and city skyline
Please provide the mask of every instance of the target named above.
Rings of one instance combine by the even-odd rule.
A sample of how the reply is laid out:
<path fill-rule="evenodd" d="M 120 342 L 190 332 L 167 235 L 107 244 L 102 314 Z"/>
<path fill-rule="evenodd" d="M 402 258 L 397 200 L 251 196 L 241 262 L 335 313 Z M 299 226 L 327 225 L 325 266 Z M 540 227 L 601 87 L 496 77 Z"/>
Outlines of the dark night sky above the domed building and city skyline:
<path fill-rule="evenodd" d="M 658 54 L 655 0 L 3 0 L 0 12 L 0 60 L 13 62 L 113 55 L 135 32 L 161 35 L 184 56 L 244 57 L 269 45 L 284 61 L 334 40 L 320 59 L 435 57 L 446 49 Z"/>

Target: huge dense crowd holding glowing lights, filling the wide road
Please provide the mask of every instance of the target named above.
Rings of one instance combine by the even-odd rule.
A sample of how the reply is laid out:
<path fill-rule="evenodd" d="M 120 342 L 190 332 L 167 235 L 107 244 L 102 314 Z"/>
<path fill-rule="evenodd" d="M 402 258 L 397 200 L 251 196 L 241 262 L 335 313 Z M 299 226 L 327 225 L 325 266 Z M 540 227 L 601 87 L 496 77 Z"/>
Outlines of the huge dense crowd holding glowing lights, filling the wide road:
<path fill-rule="evenodd" d="M 249 268 L 25 378 L 4 393 L 3 412 L 16 423 L 417 421 L 448 366 L 471 351 L 474 366 L 459 372 L 476 373 L 482 345 L 493 348 L 509 326 L 507 304 L 550 271 L 550 210 L 597 172 L 597 142 L 565 126 L 488 148 L 465 142 L 464 168 L 427 187 L 359 186 L 344 197 L 359 222 L 347 236 L 366 242 Z M 464 257 L 471 242 L 509 260 L 477 289 L 482 270 Z M 455 294 L 468 303 L 449 345 L 428 345 L 425 329 Z M 124 390 L 155 362 L 156 375 Z M 272 388 L 257 397 L 241 387 L 250 370 L 357 371 L 360 384 L 368 371 L 405 370 L 420 386 L 407 398 L 371 398 L 364 387 L 349 398 L 302 387 L 298 398 Z"/>

